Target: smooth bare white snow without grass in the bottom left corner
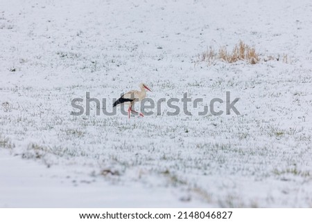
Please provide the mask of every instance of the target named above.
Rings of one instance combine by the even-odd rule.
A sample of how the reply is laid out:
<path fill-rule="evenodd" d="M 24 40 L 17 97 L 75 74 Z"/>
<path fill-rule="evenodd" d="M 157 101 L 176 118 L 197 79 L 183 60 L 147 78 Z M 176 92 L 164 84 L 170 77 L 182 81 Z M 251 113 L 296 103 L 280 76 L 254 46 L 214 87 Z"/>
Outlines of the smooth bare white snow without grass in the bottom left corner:
<path fill-rule="evenodd" d="M 164 207 L 194 206 L 176 200 L 174 192 L 162 187 L 157 191 L 161 195 L 153 196 L 153 189 L 142 189 L 138 184 L 125 187 L 88 176 L 81 180 L 81 176 L 69 176 L 64 167 L 46 169 L 5 151 L 1 151 L 0 159 L 1 169 L 8 169 L 0 172 L 1 207 L 156 207 L 159 203 Z"/>

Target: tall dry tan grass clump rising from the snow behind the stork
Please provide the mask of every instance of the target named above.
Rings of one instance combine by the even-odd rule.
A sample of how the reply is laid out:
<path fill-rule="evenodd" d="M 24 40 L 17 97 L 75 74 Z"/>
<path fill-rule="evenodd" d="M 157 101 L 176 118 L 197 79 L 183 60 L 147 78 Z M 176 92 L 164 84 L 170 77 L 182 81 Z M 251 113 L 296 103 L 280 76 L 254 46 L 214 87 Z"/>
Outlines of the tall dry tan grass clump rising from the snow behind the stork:
<path fill-rule="evenodd" d="M 268 56 L 263 58 L 264 62 L 269 60 L 279 61 L 279 57 Z M 282 62 L 288 63 L 289 59 L 287 55 L 282 57 Z M 250 64 L 257 64 L 261 61 L 259 53 L 256 52 L 256 49 L 248 44 L 239 41 L 239 44 L 236 44 L 232 51 L 228 52 L 226 46 L 221 46 L 216 52 L 214 48 L 210 47 L 207 50 L 198 55 L 198 62 L 208 62 L 208 64 L 213 64 L 216 61 L 223 61 L 227 63 L 234 63 L 238 61 L 246 61 Z"/>

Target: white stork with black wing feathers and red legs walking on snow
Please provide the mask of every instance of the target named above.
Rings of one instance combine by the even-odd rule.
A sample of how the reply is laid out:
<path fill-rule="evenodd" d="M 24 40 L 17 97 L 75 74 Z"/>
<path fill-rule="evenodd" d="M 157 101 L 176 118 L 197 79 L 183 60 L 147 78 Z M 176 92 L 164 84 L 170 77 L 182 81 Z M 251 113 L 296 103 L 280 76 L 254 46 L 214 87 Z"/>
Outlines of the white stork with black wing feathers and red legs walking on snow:
<path fill-rule="evenodd" d="M 144 83 L 140 84 L 140 89 L 141 91 L 132 90 L 132 91 L 129 91 L 128 93 L 121 95 L 121 98 L 119 98 L 118 100 L 114 102 L 113 107 L 116 107 L 116 105 L 118 104 L 127 104 L 129 106 L 128 108 L 129 118 L 130 118 L 130 112 L 138 113 L 137 111 L 132 109 L 132 106 L 135 104 L 135 102 L 141 101 L 144 98 L 146 98 L 146 89 L 150 91 L 150 89 L 148 89 L 148 86 L 146 86 L 146 84 Z M 139 115 L 142 117 L 144 116 L 142 113 L 139 113 Z"/>

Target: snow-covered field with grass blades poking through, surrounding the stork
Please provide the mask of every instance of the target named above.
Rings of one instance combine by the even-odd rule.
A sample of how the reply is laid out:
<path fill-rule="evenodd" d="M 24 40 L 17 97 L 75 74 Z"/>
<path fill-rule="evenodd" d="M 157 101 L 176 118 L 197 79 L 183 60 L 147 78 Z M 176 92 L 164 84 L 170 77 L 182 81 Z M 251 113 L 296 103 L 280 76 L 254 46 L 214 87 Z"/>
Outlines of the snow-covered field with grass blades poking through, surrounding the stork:
<path fill-rule="evenodd" d="M 309 0 L 1 0 L 0 207 L 312 207 L 311 12 Z M 198 61 L 239 40 L 290 59 Z M 169 116 L 165 103 L 144 118 L 94 104 L 71 115 L 86 92 L 111 110 L 141 82 L 155 101 L 229 91 L 241 115 Z"/>

